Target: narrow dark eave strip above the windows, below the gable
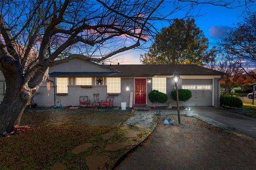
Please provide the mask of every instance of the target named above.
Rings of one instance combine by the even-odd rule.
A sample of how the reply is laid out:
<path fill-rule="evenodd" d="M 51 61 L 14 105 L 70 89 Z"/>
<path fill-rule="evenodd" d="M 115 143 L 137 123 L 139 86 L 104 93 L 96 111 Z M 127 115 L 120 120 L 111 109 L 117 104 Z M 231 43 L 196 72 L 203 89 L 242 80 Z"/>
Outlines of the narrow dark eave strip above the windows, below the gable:
<path fill-rule="evenodd" d="M 116 74 L 116 72 L 52 72 L 50 77 L 105 77 Z"/>

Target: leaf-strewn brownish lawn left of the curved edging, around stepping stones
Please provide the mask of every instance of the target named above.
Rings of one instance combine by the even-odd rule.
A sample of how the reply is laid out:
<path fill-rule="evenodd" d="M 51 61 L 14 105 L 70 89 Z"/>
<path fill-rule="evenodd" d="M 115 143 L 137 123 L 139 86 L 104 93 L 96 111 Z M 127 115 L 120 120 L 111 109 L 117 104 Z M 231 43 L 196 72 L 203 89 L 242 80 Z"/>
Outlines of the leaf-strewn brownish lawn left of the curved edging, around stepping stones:
<path fill-rule="evenodd" d="M 68 169 L 88 169 L 85 158 L 101 155 L 108 159 L 104 169 L 110 169 L 127 150 L 143 140 L 151 131 L 141 131 L 136 138 L 126 139 L 117 126 L 131 116 L 130 113 L 94 113 L 70 110 L 25 113 L 21 124 L 33 126 L 29 131 L 0 138 L 0 169 L 50 169 L 63 162 Z M 102 135 L 113 132 L 109 140 Z M 118 151 L 105 151 L 110 143 L 126 141 L 129 145 Z M 90 142 L 93 146 L 81 154 L 71 150 Z"/>

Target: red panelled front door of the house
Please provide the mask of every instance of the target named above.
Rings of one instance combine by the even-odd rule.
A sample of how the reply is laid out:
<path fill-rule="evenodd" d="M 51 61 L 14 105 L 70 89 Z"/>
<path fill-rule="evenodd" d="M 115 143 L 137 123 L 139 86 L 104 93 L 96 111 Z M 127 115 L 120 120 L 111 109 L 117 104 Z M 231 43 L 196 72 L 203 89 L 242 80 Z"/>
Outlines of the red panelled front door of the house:
<path fill-rule="evenodd" d="M 135 79 L 135 104 L 146 104 L 146 79 Z"/>

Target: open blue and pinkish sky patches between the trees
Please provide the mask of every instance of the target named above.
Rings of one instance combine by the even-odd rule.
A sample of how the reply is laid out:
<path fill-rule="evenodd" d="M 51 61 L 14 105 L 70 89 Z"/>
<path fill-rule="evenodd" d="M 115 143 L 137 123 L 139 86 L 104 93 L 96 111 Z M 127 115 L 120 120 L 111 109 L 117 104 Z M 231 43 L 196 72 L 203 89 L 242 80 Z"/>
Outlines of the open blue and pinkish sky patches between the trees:
<path fill-rule="evenodd" d="M 167 13 L 170 11 L 170 4 L 163 5 L 161 12 Z M 200 10 L 200 11 L 199 11 Z M 203 16 L 197 16 L 195 18 L 197 27 L 203 30 L 206 38 L 209 39 L 209 48 L 217 45 L 221 35 L 229 31 L 231 28 L 236 26 L 236 23 L 243 21 L 243 17 L 246 16 L 244 7 L 237 7 L 228 9 L 220 6 L 203 5 L 198 6 L 195 13 L 199 12 Z M 251 11 L 255 11 L 255 6 L 250 6 Z M 175 13 L 172 18 L 181 18 L 182 12 Z M 164 27 L 168 24 L 164 23 Z M 159 28 L 162 28 L 162 24 L 159 24 Z M 151 42 L 147 43 L 150 46 Z M 122 55 L 117 56 L 115 62 L 121 64 L 141 64 L 139 61 L 140 54 L 145 53 L 144 50 L 130 50 Z"/>

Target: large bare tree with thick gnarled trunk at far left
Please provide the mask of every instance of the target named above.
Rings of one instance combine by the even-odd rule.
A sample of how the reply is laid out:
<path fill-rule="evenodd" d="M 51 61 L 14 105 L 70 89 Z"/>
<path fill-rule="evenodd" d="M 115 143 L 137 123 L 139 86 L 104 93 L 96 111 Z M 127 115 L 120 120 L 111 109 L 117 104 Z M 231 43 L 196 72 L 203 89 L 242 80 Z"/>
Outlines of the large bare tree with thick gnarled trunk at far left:
<path fill-rule="evenodd" d="M 74 57 L 101 62 L 138 48 L 141 41 L 158 32 L 155 22 L 169 22 L 167 18 L 183 7 L 189 12 L 197 4 L 231 4 L 177 0 L 169 4 L 170 13 L 163 15 L 157 11 L 162 3 L 163 0 L 1 1 L 0 70 L 6 92 L 0 105 L 0 134 L 11 132 L 13 125 L 19 124 L 31 97 L 47 79 L 49 67 Z M 207 45 L 205 42 L 202 40 L 202 46 Z"/>

